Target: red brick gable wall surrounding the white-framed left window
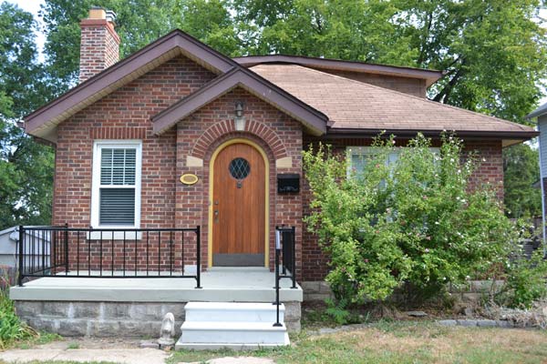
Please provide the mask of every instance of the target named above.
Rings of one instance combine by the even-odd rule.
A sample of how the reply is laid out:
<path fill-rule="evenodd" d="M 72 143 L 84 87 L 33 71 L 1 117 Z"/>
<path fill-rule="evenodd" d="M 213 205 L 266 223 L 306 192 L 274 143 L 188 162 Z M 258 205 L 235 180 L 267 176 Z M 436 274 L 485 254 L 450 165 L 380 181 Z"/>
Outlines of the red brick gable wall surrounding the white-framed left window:
<path fill-rule="evenodd" d="M 176 130 L 154 136 L 150 116 L 213 77 L 191 60 L 175 58 L 59 125 L 54 224 L 89 227 L 94 139 L 138 138 L 142 139 L 141 227 L 174 227 L 180 176 Z M 71 261 L 75 263 L 76 241 L 71 239 L 70 243 Z"/>

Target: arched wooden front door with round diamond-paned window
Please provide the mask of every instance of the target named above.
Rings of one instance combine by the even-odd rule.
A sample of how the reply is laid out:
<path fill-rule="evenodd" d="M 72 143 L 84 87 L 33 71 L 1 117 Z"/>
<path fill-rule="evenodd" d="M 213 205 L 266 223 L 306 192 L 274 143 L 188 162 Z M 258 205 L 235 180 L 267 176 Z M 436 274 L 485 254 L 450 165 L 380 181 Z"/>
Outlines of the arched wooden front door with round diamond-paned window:
<path fill-rule="evenodd" d="M 212 265 L 264 266 L 266 166 L 256 148 L 224 147 L 213 166 Z"/>

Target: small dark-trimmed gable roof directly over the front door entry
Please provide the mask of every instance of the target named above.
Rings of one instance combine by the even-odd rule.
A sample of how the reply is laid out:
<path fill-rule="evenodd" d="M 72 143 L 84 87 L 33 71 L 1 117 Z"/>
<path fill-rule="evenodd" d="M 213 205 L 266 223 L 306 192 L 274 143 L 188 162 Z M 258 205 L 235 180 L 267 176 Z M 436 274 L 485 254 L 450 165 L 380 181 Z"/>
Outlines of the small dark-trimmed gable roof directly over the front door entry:
<path fill-rule="evenodd" d="M 213 79 L 190 96 L 183 97 L 181 101 L 152 117 L 154 132 L 162 133 L 179 120 L 237 86 L 243 87 L 254 96 L 266 99 L 287 115 L 293 116 L 304 124 L 312 135 L 325 134 L 328 118 L 324 114 L 242 67 L 233 68 L 225 75 Z"/>

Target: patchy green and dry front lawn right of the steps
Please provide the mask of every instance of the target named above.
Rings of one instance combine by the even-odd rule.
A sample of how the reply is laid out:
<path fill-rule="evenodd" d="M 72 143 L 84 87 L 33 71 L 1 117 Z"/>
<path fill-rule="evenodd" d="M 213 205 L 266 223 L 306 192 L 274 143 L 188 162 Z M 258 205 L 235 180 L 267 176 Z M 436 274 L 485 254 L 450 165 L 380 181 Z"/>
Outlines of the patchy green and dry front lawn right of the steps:
<path fill-rule="evenodd" d="M 288 349 L 245 355 L 277 363 L 544 363 L 547 332 L 536 329 L 446 328 L 431 321 L 387 322 L 325 336 L 292 338 Z M 231 351 L 174 353 L 168 363 L 237 355 Z"/>

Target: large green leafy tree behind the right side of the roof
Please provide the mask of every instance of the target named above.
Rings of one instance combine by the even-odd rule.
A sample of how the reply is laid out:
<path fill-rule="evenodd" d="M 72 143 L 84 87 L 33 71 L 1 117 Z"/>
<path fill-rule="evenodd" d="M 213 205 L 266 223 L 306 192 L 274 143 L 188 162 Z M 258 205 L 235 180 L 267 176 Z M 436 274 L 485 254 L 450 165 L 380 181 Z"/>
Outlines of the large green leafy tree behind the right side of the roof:
<path fill-rule="evenodd" d="M 233 0 L 250 54 L 439 69 L 428 96 L 524 122 L 541 97 L 539 0 Z"/>

